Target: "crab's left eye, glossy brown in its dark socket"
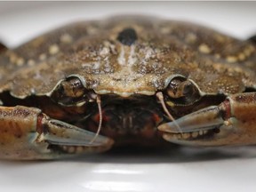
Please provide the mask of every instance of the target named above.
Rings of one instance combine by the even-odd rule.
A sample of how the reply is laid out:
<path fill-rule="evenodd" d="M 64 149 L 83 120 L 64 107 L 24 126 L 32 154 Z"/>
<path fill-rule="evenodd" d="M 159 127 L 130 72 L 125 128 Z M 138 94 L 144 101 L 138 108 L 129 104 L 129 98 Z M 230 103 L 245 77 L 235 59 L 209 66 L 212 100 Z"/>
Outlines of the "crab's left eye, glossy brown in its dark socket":
<path fill-rule="evenodd" d="M 84 88 L 80 79 L 71 76 L 55 88 L 51 97 L 60 105 L 74 106 L 89 100 L 89 94 L 90 92 Z"/>

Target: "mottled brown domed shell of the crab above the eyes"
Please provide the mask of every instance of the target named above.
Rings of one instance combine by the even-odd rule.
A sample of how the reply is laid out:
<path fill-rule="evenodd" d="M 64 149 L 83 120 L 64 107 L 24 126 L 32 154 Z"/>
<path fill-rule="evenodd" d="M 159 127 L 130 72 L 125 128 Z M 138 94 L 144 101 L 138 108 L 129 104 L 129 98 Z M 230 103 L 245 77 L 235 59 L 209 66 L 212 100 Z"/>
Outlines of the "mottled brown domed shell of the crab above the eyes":
<path fill-rule="evenodd" d="M 135 32 L 130 42 L 122 40 L 127 29 Z M 155 94 L 172 76 L 188 77 L 203 94 L 256 87 L 256 49 L 250 42 L 147 17 L 71 24 L 2 53 L 0 64 L 0 92 L 18 98 L 49 95 L 67 76 L 78 76 L 100 94 L 124 97 Z"/>

